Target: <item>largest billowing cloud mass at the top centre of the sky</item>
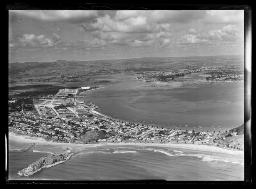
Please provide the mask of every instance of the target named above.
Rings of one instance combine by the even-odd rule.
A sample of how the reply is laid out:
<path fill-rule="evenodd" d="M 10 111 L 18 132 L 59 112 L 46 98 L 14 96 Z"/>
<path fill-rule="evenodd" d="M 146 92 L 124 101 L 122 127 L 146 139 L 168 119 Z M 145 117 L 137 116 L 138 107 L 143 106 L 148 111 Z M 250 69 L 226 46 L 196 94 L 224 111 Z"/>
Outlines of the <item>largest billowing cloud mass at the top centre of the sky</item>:
<path fill-rule="evenodd" d="M 145 12 L 145 11 L 144 11 Z M 91 32 L 95 38 L 112 45 L 130 45 L 133 47 L 153 44 L 167 45 L 172 38 L 169 23 L 152 22 L 138 11 L 117 12 L 116 17 L 109 15 L 97 18 L 96 23 L 84 23 L 81 27 Z M 167 38 L 167 40 L 164 40 Z M 141 42 L 140 42 L 141 41 Z"/>

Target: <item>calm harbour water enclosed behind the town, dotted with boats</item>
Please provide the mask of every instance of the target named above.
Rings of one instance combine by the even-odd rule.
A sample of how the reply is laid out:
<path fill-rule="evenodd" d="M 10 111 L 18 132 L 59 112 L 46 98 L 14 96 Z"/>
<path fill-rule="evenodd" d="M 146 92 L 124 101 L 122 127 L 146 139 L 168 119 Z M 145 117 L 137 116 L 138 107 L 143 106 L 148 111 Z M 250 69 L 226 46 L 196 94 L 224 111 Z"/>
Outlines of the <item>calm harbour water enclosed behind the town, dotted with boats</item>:
<path fill-rule="evenodd" d="M 86 91 L 79 100 L 92 101 L 96 111 L 116 119 L 163 128 L 226 131 L 244 122 L 243 82 L 163 87 L 135 77 L 117 75 L 119 82 Z"/>

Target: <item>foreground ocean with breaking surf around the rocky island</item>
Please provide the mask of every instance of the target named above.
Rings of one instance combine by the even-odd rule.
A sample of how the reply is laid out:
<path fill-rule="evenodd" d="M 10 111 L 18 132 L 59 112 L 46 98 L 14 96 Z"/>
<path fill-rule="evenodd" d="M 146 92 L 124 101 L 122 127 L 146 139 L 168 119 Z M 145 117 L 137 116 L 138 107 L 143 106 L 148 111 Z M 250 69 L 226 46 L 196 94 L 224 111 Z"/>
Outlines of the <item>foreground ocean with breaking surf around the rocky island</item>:
<path fill-rule="evenodd" d="M 21 149 L 24 149 L 29 144 L 22 145 Z M 32 176 L 20 177 L 17 172 L 37 159 L 51 152 L 56 153 L 60 149 L 54 144 L 36 144 L 35 148 L 22 152 L 17 151 L 18 146 L 13 141 L 9 147 L 10 180 L 239 181 L 244 179 L 243 164 L 219 161 L 214 159 L 215 153 L 207 153 L 208 155 L 203 156 L 196 151 L 183 149 L 125 145 L 84 149 L 74 147 L 75 154 L 67 162 L 42 169 Z M 49 153 L 46 153 L 45 149 Z"/>

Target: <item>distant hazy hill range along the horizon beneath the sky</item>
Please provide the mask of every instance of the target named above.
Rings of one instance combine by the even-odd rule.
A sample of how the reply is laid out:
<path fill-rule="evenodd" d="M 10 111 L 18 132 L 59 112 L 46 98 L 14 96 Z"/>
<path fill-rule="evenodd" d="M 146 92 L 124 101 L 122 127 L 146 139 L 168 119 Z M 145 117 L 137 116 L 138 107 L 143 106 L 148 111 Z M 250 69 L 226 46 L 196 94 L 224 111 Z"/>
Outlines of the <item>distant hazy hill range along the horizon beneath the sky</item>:
<path fill-rule="evenodd" d="M 143 58 L 130 58 L 130 59 L 114 59 L 114 60 L 92 60 L 92 61 L 68 61 L 57 60 L 53 62 L 25 62 L 25 63 L 9 63 L 9 74 L 24 73 L 28 71 L 45 71 L 53 72 L 69 72 L 70 70 L 76 71 L 158 71 L 165 68 L 178 68 L 180 66 L 203 66 L 205 64 L 215 63 L 216 58 L 223 59 L 223 63 L 233 63 L 231 58 L 240 58 L 237 56 L 191 56 L 191 57 L 143 57 Z M 239 60 L 240 61 L 240 60 Z M 28 72 L 28 75 L 31 73 Z"/>

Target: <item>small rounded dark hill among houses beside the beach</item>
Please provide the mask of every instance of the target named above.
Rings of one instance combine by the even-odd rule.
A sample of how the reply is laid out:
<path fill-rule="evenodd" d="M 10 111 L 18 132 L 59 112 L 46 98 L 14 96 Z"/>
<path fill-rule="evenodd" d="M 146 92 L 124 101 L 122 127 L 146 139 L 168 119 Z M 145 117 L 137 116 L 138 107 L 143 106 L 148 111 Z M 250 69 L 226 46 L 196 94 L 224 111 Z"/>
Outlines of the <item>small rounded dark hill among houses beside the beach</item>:
<path fill-rule="evenodd" d="M 92 142 L 96 141 L 97 139 L 104 138 L 106 137 L 107 132 L 104 130 L 84 130 L 80 135 L 79 135 L 79 141 L 84 141 L 84 142 Z"/>

